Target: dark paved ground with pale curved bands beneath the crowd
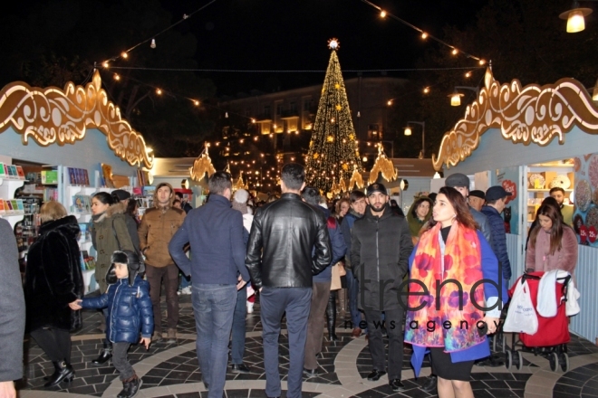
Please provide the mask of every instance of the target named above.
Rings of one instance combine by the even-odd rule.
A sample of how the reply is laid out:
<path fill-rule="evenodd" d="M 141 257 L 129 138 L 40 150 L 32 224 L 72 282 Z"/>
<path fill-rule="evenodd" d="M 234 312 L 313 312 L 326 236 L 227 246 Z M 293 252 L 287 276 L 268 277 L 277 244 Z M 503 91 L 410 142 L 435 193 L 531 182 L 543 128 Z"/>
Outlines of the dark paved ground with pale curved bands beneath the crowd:
<path fill-rule="evenodd" d="M 163 315 L 165 306 L 163 305 Z M 76 398 L 113 397 L 121 391 L 121 382 L 111 364 L 93 366 L 91 360 L 101 350 L 101 313 L 84 311 L 84 327 L 72 336 L 72 365 L 76 376 L 72 384 L 61 384 L 53 390 L 43 389 L 43 377 L 53 373 L 50 363 L 41 349 L 31 339 L 25 339 L 25 378 L 18 384 L 22 398 Z M 319 358 L 320 375 L 304 378 L 304 397 L 433 397 L 420 389 L 423 377 L 429 374 L 425 364 L 420 378 L 416 379 L 410 368 L 410 355 L 405 355 L 402 377 L 406 390 L 393 393 L 386 376 L 378 382 L 369 382 L 366 375 L 371 372 L 371 357 L 365 336 L 351 337 L 351 328 L 343 328 L 337 319 L 336 334 L 339 342 L 324 339 L 323 353 Z M 283 390 L 286 388 L 288 369 L 288 344 L 283 330 L 280 336 L 280 371 Z M 198 398 L 207 392 L 201 382 L 201 371 L 195 350 L 195 321 L 191 310 L 190 296 L 180 297 L 180 321 L 176 344 L 154 343 L 146 350 L 143 346 L 131 346 L 130 362 L 143 379 L 139 397 Z M 251 368 L 249 374 L 227 374 L 226 394 L 228 398 L 265 397 L 265 374 L 261 344 L 261 323 L 259 304 L 256 311 L 247 315 L 247 338 L 245 363 Z M 511 336 L 506 336 L 510 346 Z M 500 346 L 500 345 L 499 345 Z M 550 370 L 550 363 L 542 355 L 523 353 L 521 370 L 516 366 L 483 367 L 474 366 L 471 384 L 477 398 L 506 397 L 598 397 L 598 347 L 582 338 L 572 336 L 568 345 L 569 370 L 564 373 L 559 367 Z M 1 359 L 0 359 L 1 360 Z M 285 393 L 283 393 L 285 396 Z"/>

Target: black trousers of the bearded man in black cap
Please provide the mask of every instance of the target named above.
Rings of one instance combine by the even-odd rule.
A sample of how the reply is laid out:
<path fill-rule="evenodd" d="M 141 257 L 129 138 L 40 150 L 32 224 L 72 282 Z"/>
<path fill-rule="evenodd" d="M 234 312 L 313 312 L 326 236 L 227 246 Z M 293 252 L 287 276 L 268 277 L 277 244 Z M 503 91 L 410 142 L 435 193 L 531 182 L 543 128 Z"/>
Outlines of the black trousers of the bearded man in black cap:
<path fill-rule="evenodd" d="M 386 354 L 382 341 L 381 311 L 365 308 L 365 320 L 368 323 L 368 336 L 373 368 L 386 371 Z M 389 336 L 389 380 L 400 379 L 403 365 L 403 308 L 384 311 L 384 327 Z"/>

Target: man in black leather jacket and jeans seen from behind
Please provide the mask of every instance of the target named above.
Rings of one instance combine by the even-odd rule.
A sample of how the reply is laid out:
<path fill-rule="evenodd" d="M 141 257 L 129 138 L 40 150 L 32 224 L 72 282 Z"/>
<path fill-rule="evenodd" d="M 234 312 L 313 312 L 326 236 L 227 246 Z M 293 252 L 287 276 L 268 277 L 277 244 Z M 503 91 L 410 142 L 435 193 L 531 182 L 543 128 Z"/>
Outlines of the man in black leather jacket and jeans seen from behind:
<path fill-rule="evenodd" d="M 281 394 L 278 336 L 285 311 L 290 353 L 286 396 L 301 396 L 312 275 L 333 260 L 323 212 L 301 200 L 304 180 L 304 166 L 283 166 L 283 194 L 256 211 L 247 242 L 246 266 L 254 288 L 260 291 L 268 397 Z"/>

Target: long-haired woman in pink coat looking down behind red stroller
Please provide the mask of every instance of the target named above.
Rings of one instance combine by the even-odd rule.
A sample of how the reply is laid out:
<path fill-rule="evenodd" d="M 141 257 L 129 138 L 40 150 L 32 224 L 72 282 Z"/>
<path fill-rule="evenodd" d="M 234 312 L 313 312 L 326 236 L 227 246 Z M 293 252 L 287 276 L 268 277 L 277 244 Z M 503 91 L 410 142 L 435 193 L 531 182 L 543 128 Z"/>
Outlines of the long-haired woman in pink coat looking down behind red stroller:
<path fill-rule="evenodd" d="M 529 232 L 526 270 L 566 270 L 573 275 L 577 265 L 577 237 L 563 221 L 555 204 L 544 202 L 536 212 L 537 225 Z"/>

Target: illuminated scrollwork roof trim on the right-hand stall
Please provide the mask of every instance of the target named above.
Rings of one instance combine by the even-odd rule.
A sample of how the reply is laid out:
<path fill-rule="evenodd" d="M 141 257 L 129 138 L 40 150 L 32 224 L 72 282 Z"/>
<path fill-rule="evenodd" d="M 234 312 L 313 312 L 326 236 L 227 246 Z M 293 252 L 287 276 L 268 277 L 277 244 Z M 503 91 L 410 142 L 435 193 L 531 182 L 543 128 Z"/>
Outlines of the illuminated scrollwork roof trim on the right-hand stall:
<path fill-rule="evenodd" d="M 500 128 L 502 136 L 514 144 L 541 147 L 577 126 L 588 134 L 598 134 L 598 109 L 584 85 L 574 79 L 555 84 L 521 87 L 517 80 L 502 86 L 487 68 L 484 86 L 477 100 L 468 105 L 465 118 L 444 134 L 438 157 L 432 155 L 436 170 L 443 165 L 457 166 L 476 150 L 488 128 Z"/>

